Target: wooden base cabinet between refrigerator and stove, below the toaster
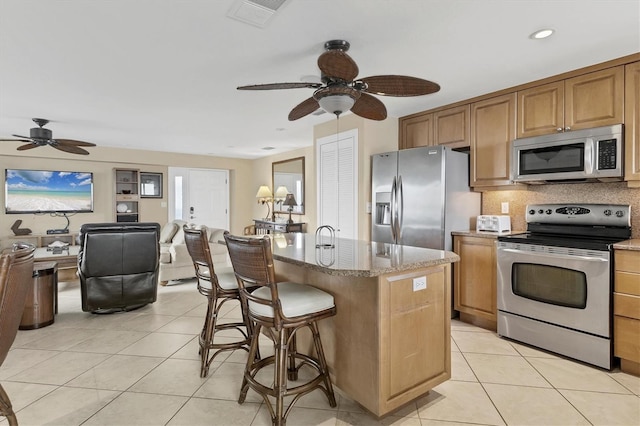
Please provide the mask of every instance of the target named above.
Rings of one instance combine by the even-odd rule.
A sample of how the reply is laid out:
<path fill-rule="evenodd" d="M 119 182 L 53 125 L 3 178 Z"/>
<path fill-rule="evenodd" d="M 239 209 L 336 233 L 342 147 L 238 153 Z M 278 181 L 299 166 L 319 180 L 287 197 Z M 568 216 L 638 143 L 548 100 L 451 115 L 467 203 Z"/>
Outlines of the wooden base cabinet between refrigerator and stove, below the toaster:
<path fill-rule="evenodd" d="M 496 330 L 496 239 L 453 236 L 453 251 L 460 261 L 453 265 L 454 308 L 464 322 Z"/>

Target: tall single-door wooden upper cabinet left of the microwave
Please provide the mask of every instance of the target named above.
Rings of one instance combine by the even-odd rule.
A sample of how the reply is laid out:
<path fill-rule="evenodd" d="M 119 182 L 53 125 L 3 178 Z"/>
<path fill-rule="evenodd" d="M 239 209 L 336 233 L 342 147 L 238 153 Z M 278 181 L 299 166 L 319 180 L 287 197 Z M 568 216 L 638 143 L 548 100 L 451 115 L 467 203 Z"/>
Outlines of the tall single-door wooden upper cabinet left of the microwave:
<path fill-rule="evenodd" d="M 512 185 L 511 141 L 516 136 L 516 94 L 471 104 L 471 186 Z"/>

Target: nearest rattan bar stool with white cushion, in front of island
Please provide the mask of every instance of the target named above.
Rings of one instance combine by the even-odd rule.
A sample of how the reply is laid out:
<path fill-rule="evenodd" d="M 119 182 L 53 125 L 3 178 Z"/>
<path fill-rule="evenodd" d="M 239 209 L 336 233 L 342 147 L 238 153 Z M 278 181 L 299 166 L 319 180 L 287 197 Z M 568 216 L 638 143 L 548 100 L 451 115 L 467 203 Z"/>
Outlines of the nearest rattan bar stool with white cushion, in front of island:
<path fill-rule="evenodd" d="M 274 425 L 285 425 L 296 401 L 303 395 L 321 389 L 331 407 L 336 399 L 329 377 L 317 321 L 336 314 L 333 296 L 306 284 L 276 283 L 271 251 L 271 239 L 224 236 L 233 270 L 238 278 L 240 297 L 246 300 L 249 320 L 254 324 L 251 348 L 244 371 L 238 402 L 242 404 L 249 388 L 264 399 Z M 248 288 L 255 288 L 251 293 Z M 316 356 L 299 353 L 296 332 L 304 327 L 311 330 Z M 274 355 L 257 357 L 260 333 L 265 333 L 274 345 Z M 296 362 L 300 361 L 297 365 Z M 288 364 L 288 365 L 287 365 Z M 264 384 L 256 379 L 265 367 L 273 365 L 273 382 Z M 304 366 L 315 369 L 317 375 L 298 386 L 288 387 L 287 379 L 297 380 L 298 370 Z M 284 409 L 284 397 L 293 395 Z M 275 398 L 275 409 L 269 400 Z"/>

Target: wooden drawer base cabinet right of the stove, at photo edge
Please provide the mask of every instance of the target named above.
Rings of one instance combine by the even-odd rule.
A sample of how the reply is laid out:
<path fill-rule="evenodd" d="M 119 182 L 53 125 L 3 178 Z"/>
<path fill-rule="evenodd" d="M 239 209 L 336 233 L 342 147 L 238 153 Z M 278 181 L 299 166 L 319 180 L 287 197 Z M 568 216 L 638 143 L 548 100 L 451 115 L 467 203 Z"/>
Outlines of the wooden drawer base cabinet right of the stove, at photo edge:
<path fill-rule="evenodd" d="M 640 376 L 640 251 L 614 256 L 613 352 L 622 371 Z"/>

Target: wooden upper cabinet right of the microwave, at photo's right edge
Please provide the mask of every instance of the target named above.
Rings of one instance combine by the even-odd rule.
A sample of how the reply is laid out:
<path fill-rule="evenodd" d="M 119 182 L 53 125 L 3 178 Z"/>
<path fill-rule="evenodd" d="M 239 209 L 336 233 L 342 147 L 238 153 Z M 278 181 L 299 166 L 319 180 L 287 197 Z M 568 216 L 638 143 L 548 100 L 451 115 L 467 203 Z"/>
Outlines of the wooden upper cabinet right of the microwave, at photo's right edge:
<path fill-rule="evenodd" d="M 640 62 L 625 69 L 624 178 L 629 186 L 640 186 Z"/>

